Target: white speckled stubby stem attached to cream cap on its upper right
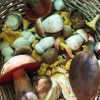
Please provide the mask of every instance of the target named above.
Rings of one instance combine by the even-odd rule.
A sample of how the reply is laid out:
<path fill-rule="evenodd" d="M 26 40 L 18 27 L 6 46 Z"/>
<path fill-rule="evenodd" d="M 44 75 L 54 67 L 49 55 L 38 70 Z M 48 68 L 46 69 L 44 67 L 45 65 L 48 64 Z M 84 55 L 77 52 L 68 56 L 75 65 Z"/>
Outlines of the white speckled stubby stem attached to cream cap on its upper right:
<path fill-rule="evenodd" d="M 78 50 L 81 45 L 84 42 L 84 38 L 80 36 L 79 34 L 72 35 L 66 40 L 67 45 L 72 49 L 72 50 Z"/>

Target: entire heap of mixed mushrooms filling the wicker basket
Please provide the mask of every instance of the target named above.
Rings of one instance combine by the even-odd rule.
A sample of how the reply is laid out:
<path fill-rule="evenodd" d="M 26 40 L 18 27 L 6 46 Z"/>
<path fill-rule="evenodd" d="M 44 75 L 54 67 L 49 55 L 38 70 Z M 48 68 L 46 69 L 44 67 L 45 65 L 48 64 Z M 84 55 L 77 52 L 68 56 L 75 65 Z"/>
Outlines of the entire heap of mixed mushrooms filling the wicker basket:
<path fill-rule="evenodd" d="M 97 95 L 100 40 L 95 25 L 100 15 L 87 22 L 80 11 L 66 8 L 63 0 L 41 0 L 33 16 L 30 9 L 25 16 L 17 11 L 7 16 L 0 34 L 0 84 L 14 83 L 16 100 L 92 100 Z"/>

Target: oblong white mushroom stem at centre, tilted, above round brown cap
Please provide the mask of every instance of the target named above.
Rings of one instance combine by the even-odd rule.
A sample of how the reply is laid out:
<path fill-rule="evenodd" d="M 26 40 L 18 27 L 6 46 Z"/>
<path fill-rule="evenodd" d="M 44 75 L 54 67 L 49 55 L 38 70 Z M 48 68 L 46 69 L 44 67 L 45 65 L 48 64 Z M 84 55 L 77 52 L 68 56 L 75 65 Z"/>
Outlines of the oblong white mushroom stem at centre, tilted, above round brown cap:
<path fill-rule="evenodd" d="M 41 39 L 39 43 L 35 45 L 35 50 L 42 54 L 45 50 L 52 47 L 54 45 L 55 39 L 53 37 L 46 37 Z"/>

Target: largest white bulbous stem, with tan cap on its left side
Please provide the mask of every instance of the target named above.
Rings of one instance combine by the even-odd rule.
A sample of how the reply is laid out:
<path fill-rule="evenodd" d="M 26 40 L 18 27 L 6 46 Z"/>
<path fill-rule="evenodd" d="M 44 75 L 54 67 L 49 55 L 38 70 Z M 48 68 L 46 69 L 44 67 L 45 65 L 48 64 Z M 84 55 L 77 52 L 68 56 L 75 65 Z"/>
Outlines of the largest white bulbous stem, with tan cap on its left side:
<path fill-rule="evenodd" d="M 63 29 L 63 20 L 62 17 L 58 14 L 51 15 L 47 17 L 43 22 L 42 22 L 44 32 L 48 33 L 56 33 L 59 32 Z"/>

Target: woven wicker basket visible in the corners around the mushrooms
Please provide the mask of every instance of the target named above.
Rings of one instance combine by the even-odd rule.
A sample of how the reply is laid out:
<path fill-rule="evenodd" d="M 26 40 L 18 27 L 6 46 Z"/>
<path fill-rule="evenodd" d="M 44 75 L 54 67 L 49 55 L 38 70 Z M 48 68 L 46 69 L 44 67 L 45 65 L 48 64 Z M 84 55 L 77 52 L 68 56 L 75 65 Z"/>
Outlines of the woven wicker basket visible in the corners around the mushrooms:
<path fill-rule="evenodd" d="M 0 23 L 5 20 L 7 14 L 11 11 L 19 11 L 24 15 L 25 4 L 24 0 L 0 0 Z M 63 0 L 67 10 L 80 10 L 87 20 L 92 20 L 97 14 L 100 14 L 100 0 Z M 0 24 L 1 25 L 1 24 Z M 97 33 L 100 36 L 100 21 L 97 25 Z M 2 58 L 1 58 L 2 59 Z M 0 62 L 2 65 L 2 62 Z M 0 100 L 14 100 L 14 93 L 10 85 L 0 86 Z M 99 100 L 99 99 L 98 99 Z"/>

